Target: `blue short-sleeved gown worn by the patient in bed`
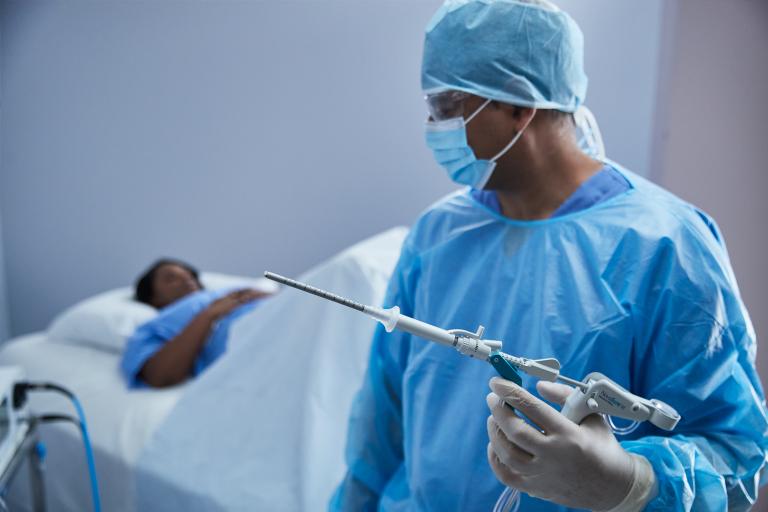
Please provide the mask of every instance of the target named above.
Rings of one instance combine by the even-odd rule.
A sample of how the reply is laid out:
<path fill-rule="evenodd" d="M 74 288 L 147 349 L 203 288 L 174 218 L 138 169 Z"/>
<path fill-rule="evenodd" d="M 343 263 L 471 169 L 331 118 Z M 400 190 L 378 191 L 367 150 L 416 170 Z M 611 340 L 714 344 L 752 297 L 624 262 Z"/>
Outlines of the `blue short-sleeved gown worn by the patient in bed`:
<path fill-rule="evenodd" d="M 213 301 L 232 290 L 201 290 L 192 293 L 163 308 L 149 322 L 141 325 L 128 339 L 120 362 L 120 369 L 129 387 L 144 387 L 139 372 L 147 360 L 160 350 L 166 342 L 175 338 L 184 328 Z M 196 376 L 218 359 L 227 348 L 227 337 L 232 322 L 251 311 L 259 301 L 244 304 L 221 320 L 208 335 L 203 349 L 195 359 L 192 375 Z"/>

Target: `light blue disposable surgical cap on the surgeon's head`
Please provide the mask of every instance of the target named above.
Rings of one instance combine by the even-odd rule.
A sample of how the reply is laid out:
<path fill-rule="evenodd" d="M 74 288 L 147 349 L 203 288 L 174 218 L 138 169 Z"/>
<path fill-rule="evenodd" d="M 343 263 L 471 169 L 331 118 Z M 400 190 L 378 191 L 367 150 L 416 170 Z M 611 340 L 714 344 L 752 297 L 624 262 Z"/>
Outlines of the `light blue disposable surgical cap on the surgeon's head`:
<path fill-rule="evenodd" d="M 584 36 L 563 11 L 514 0 L 447 0 L 427 25 L 421 87 L 574 112 Z"/>

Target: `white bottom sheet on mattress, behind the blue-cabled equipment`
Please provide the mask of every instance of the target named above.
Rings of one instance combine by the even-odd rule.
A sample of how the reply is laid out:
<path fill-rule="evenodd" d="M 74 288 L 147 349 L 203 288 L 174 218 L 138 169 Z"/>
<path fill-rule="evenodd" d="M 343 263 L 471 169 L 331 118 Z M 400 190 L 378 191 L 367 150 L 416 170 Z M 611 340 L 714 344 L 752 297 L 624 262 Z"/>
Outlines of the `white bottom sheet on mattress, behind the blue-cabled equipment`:
<path fill-rule="evenodd" d="M 176 404 L 186 385 L 166 390 L 128 390 L 118 371 L 119 355 L 49 341 L 44 333 L 11 340 L 0 365 L 24 368 L 29 380 L 56 382 L 73 391 L 85 409 L 99 476 L 102 508 L 135 510 L 135 465 L 139 453 Z M 74 414 L 66 398 L 35 393 L 37 413 Z M 90 509 L 90 490 L 80 433 L 70 424 L 42 427 L 47 447 L 45 486 L 50 512 Z M 26 471 L 11 487 L 11 510 L 29 510 Z"/>

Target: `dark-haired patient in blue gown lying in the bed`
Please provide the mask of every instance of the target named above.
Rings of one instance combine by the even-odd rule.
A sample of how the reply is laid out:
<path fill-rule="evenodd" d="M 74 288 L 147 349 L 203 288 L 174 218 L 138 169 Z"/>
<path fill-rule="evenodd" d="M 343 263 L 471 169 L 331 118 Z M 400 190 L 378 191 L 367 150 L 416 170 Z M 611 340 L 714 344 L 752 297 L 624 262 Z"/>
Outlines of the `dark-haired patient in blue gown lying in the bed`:
<path fill-rule="evenodd" d="M 136 282 L 135 298 L 160 311 L 128 340 L 120 364 L 128 385 L 173 386 L 199 374 L 225 352 L 231 323 L 268 295 L 204 290 L 187 263 L 155 262 Z"/>

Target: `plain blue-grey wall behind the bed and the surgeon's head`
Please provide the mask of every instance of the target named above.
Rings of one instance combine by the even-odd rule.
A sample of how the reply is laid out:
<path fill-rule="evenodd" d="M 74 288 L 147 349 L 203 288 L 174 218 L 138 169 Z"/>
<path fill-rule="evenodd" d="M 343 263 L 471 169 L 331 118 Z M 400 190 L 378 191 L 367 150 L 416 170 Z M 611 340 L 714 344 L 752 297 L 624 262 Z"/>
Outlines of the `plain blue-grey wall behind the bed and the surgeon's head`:
<path fill-rule="evenodd" d="M 0 0 L 15 334 L 168 254 L 296 274 L 452 187 L 423 144 L 439 0 Z M 611 155 L 647 172 L 661 0 L 569 0 Z"/>

